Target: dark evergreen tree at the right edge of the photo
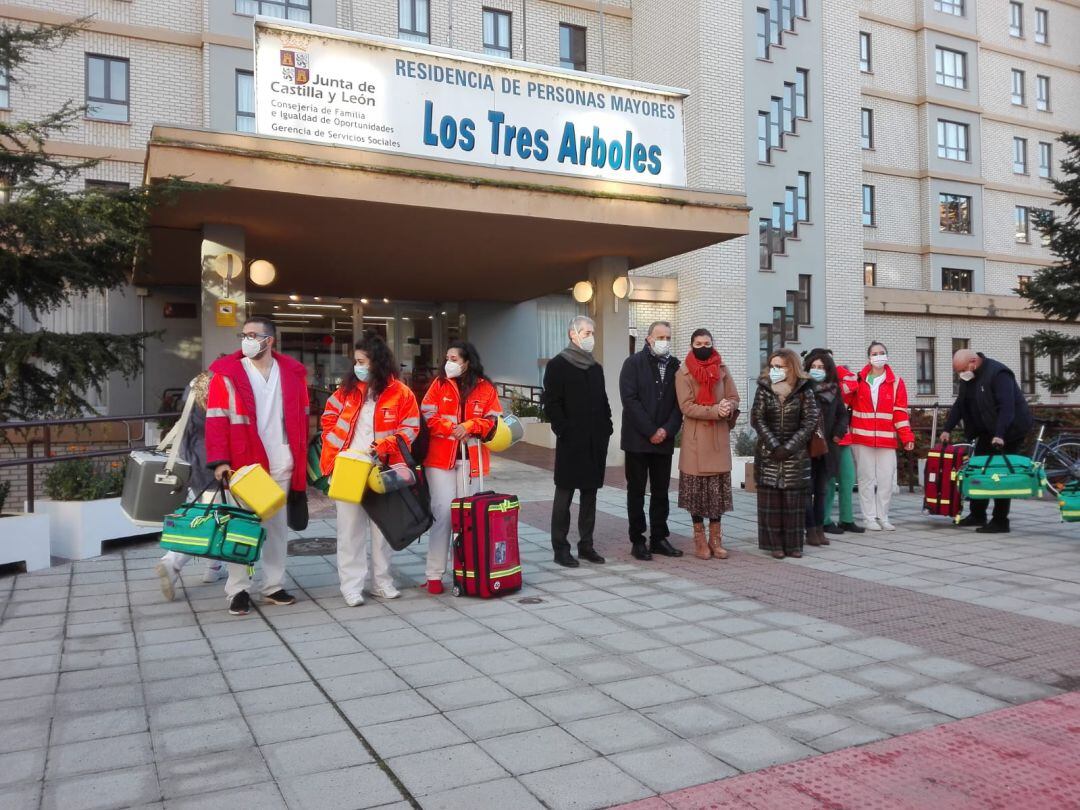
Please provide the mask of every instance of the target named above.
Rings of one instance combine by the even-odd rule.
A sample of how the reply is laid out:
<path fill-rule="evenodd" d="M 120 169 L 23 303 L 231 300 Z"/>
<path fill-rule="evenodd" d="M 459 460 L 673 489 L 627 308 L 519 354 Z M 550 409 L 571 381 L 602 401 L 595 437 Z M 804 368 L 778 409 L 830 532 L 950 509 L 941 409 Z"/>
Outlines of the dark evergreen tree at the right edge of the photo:
<path fill-rule="evenodd" d="M 1061 195 L 1054 203 L 1057 211 L 1039 212 L 1035 217 L 1057 261 L 1039 270 L 1017 292 L 1048 319 L 1076 323 L 1080 320 L 1080 133 L 1066 133 L 1058 143 L 1066 157 L 1063 176 L 1051 180 Z M 1080 388 L 1080 336 L 1039 329 L 1034 343 L 1036 354 L 1059 354 L 1064 360 L 1061 375 L 1039 375 L 1044 383 L 1062 392 Z"/>

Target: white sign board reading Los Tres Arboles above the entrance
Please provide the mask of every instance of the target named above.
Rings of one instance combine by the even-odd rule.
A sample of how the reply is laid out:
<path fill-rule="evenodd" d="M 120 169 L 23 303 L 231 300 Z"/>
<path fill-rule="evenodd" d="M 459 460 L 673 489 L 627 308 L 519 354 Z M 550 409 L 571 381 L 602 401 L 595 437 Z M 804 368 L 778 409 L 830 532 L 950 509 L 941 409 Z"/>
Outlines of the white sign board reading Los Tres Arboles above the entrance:
<path fill-rule="evenodd" d="M 260 135 L 685 186 L 684 97 L 319 26 L 255 23 Z"/>

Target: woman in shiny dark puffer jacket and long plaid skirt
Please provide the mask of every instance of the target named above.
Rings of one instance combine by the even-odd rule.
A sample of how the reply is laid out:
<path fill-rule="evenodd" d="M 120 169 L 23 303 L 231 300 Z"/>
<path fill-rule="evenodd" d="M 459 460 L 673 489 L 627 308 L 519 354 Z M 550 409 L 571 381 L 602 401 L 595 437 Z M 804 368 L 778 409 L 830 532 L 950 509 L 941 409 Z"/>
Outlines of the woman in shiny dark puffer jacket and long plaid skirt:
<path fill-rule="evenodd" d="M 818 402 L 798 355 L 780 349 L 757 381 L 750 422 L 757 431 L 757 544 L 777 559 L 802 556 L 810 454 Z"/>

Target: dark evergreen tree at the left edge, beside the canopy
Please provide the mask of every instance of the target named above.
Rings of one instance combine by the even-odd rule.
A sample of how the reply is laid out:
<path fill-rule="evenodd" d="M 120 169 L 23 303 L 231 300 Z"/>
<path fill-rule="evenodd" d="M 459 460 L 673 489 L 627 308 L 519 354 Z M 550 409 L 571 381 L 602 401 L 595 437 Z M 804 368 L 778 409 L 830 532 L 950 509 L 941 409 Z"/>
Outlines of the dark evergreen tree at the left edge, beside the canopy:
<path fill-rule="evenodd" d="M 0 67 L 15 86 L 35 52 L 55 51 L 76 36 L 69 26 L 0 25 Z M 45 58 L 49 58 L 46 55 Z M 0 421 L 73 417 L 90 408 L 110 374 L 141 370 L 152 333 L 58 334 L 33 327 L 39 316 L 69 299 L 102 295 L 129 281 L 147 246 L 152 205 L 171 192 L 133 188 L 118 192 L 71 191 L 94 160 L 69 161 L 45 151 L 85 113 L 66 102 L 33 121 L 0 121 Z"/>

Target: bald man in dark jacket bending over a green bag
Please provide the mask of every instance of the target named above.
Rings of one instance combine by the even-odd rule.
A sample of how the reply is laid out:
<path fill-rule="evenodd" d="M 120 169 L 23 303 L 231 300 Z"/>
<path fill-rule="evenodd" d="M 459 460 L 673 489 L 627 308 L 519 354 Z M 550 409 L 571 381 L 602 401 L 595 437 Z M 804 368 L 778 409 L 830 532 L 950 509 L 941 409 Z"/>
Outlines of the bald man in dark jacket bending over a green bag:
<path fill-rule="evenodd" d="M 953 369 L 960 376 L 960 393 L 948 411 L 942 444 L 963 422 L 963 432 L 975 443 L 975 455 L 1017 453 L 1031 429 L 1031 410 L 1016 384 L 1016 376 L 1002 363 L 982 352 L 961 349 L 953 355 Z M 1008 498 L 995 498 L 994 516 L 986 522 L 988 501 L 972 500 L 971 513 L 958 526 L 977 526 L 976 531 L 1009 531 Z"/>

